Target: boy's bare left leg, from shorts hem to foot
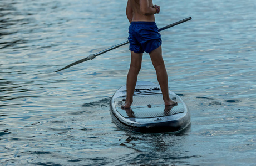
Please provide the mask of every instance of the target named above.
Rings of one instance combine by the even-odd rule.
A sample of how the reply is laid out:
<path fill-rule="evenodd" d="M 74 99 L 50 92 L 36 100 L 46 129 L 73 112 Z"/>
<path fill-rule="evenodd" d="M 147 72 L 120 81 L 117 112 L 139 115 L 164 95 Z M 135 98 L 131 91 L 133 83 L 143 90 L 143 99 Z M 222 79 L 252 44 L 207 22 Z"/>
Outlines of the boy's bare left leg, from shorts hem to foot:
<path fill-rule="evenodd" d="M 130 108 L 132 104 L 132 97 L 134 95 L 135 86 L 137 83 L 137 76 L 139 74 L 142 62 L 142 55 L 143 53 L 134 53 L 131 51 L 131 64 L 130 69 L 127 74 L 127 81 L 126 81 L 126 101 L 124 105 L 121 105 L 122 108 Z"/>

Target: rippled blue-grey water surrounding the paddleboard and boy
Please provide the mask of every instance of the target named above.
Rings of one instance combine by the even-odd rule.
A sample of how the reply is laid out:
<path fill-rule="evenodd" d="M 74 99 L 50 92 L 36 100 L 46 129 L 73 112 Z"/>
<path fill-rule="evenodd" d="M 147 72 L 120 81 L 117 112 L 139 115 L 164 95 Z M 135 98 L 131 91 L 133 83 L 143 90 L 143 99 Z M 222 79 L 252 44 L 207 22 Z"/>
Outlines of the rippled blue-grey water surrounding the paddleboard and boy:
<path fill-rule="evenodd" d="M 191 111 L 179 133 L 112 122 L 126 82 L 126 1 L 0 1 L 1 165 L 255 165 L 256 2 L 154 1 L 170 90 Z M 144 55 L 139 80 L 157 82 Z"/>

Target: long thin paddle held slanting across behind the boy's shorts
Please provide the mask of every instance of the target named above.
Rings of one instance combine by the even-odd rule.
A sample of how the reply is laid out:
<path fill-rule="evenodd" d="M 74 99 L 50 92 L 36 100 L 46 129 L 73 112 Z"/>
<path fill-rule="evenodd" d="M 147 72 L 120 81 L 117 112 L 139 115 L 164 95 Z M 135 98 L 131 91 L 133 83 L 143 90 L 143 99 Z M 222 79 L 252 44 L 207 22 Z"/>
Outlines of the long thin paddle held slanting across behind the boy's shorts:
<path fill-rule="evenodd" d="M 184 22 L 186 22 L 186 21 L 188 21 L 188 20 L 190 20 L 190 19 L 192 19 L 192 18 L 191 18 L 191 17 L 188 17 L 188 18 L 185 18 L 185 19 L 183 19 L 183 20 L 180 20 L 180 21 L 178 21 L 178 22 L 176 22 L 176 23 L 167 25 L 167 26 L 165 26 L 165 27 L 163 27 L 163 28 L 158 29 L 158 32 L 160 32 L 160 31 L 162 31 L 162 30 L 165 30 L 165 29 L 168 29 L 168 28 L 171 28 L 171 27 L 174 27 L 175 25 L 184 23 Z M 73 65 L 80 64 L 80 63 L 82 63 L 82 62 L 84 62 L 84 61 L 87 61 L 87 60 L 92 60 L 92 59 L 94 59 L 96 56 L 99 56 L 99 55 L 101 55 L 101 54 L 104 54 L 104 53 L 106 53 L 107 51 L 110 51 L 110 50 L 114 50 L 114 49 L 116 49 L 116 48 L 119 48 L 120 46 L 123 46 L 123 45 L 128 44 L 128 43 L 129 43 L 129 40 L 127 40 L 126 42 L 123 42 L 123 43 L 120 43 L 120 44 L 111 46 L 111 47 L 108 48 L 108 49 L 105 49 L 105 50 L 103 50 L 103 51 L 100 51 L 99 53 L 90 54 L 90 55 L 87 56 L 86 58 L 83 58 L 83 59 L 81 59 L 81 60 L 75 61 L 74 63 L 72 63 L 72 64 L 70 64 L 70 65 L 67 65 L 67 66 L 65 66 L 64 68 L 62 68 L 62 69 L 60 69 L 60 70 L 57 70 L 57 71 L 55 71 L 55 72 L 58 72 L 58 71 L 61 71 L 61 70 L 70 68 L 70 67 L 73 66 Z"/>

